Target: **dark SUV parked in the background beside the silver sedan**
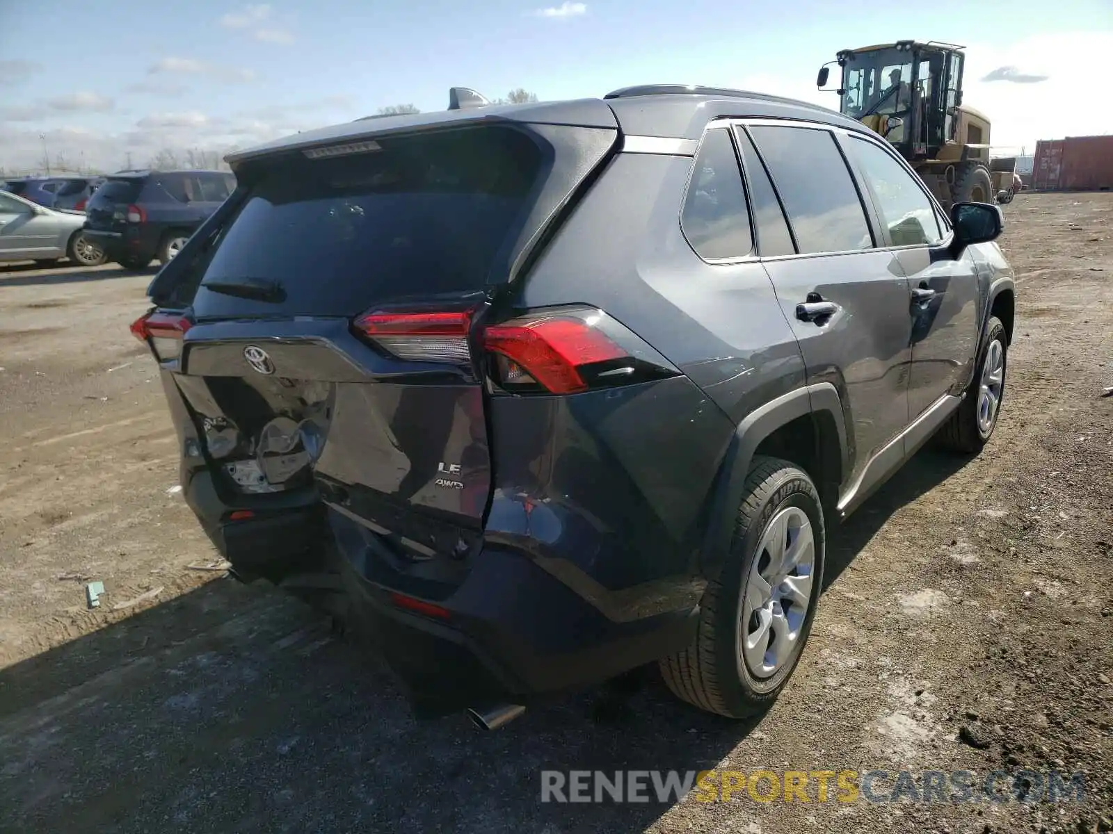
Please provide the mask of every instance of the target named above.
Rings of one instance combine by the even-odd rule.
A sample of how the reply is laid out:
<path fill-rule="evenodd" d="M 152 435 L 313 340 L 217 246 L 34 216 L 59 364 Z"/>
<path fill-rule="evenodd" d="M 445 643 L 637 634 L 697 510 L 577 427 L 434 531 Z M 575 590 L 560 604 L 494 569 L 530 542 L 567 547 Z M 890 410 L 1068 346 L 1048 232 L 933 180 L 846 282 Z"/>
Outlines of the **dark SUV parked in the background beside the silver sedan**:
<path fill-rule="evenodd" d="M 236 187 L 227 171 L 121 171 L 86 207 L 86 234 L 128 269 L 167 264 Z"/>

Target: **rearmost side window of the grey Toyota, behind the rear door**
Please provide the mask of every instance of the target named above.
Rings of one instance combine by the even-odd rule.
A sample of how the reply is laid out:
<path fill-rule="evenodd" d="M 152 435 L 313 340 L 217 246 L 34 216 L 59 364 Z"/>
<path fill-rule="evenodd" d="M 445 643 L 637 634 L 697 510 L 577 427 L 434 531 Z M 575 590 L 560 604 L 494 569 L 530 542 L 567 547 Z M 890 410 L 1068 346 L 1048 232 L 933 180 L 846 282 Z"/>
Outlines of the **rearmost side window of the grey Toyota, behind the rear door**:
<path fill-rule="evenodd" d="M 727 130 L 703 137 L 688 183 L 680 228 L 701 258 L 741 258 L 750 254 L 750 215 L 742 172 Z"/>

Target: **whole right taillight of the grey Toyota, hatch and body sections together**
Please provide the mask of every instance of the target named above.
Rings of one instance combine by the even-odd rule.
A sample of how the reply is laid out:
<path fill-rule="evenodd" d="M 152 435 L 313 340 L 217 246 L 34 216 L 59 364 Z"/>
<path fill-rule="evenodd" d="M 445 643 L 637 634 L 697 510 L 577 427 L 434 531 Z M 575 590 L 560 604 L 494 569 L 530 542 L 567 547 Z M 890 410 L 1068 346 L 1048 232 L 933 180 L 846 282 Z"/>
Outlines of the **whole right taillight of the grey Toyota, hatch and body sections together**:
<path fill-rule="evenodd" d="M 474 326 L 475 309 L 376 310 L 356 318 L 361 336 L 398 359 L 472 365 L 482 355 L 492 384 L 509 394 L 578 394 L 680 371 L 602 310 L 532 310 Z"/>

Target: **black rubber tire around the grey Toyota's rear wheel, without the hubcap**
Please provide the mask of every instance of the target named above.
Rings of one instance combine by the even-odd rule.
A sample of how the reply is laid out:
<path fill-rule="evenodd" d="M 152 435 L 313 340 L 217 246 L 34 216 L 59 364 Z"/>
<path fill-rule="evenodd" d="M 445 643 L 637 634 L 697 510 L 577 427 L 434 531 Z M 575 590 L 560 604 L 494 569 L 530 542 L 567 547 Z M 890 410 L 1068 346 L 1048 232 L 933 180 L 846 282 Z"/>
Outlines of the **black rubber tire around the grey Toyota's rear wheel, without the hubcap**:
<path fill-rule="evenodd" d="M 787 460 L 756 457 L 745 490 L 730 553 L 719 578 L 707 586 L 700 603 L 696 638 L 688 648 L 659 664 L 666 685 L 677 697 L 730 718 L 766 709 L 785 687 L 811 631 L 824 575 L 824 515 L 811 478 Z M 764 558 L 758 546 L 769 523 L 791 507 L 801 509 L 811 527 L 815 543 L 811 592 L 790 654 L 770 676 L 758 677 L 741 659 L 739 647 L 745 585 L 755 560 Z"/>

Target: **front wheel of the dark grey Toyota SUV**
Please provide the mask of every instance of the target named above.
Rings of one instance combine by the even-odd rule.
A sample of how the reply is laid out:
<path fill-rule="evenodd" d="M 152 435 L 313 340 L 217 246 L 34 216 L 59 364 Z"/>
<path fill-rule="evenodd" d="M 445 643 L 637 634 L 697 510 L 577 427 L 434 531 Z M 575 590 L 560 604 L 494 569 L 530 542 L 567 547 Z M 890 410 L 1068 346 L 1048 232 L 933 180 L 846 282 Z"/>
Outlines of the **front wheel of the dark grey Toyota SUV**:
<path fill-rule="evenodd" d="M 988 443 L 1001 416 L 1007 367 L 1005 326 L 993 316 L 966 396 L 939 430 L 938 439 L 944 448 L 976 455 Z"/>

